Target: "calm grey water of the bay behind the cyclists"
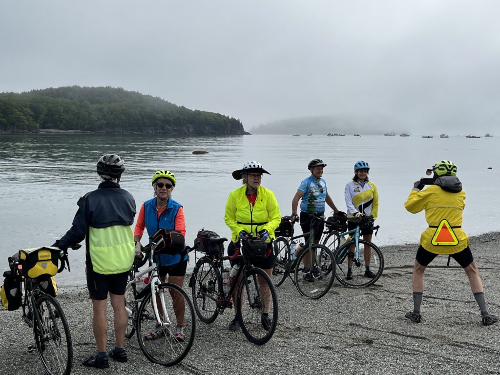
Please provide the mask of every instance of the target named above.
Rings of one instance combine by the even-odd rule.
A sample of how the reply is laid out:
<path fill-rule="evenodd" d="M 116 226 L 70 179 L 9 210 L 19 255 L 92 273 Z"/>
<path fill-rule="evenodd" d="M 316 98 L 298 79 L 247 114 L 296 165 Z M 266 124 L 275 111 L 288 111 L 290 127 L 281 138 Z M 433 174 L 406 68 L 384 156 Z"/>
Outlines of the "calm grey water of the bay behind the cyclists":
<path fill-rule="evenodd" d="M 184 206 L 187 243 L 192 243 L 201 227 L 229 235 L 224 205 L 229 191 L 240 184 L 231 172 L 247 160 L 260 161 L 272 174 L 264 175 L 262 184 L 275 192 L 284 215 L 290 213 L 291 198 L 308 175 L 310 159 L 319 157 L 328 164 L 323 178 L 342 210 L 343 189 L 353 175 L 352 166 L 364 159 L 371 165 L 369 177 L 377 185 L 380 200 L 377 223 L 381 229 L 374 241 L 383 245 L 418 241 L 426 226 L 423 213 L 412 215 L 403 203 L 413 182 L 440 159 L 453 160 L 458 166 L 467 193 L 466 232 L 498 230 L 499 147 L 498 137 L 459 136 L 0 135 L 0 269 L 7 267 L 7 256 L 16 250 L 50 245 L 66 232 L 78 198 L 99 183 L 95 163 L 105 153 L 125 159 L 120 184 L 135 197 L 137 210 L 152 197 L 154 171 L 167 168 L 175 173 L 177 186 L 172 196 Z M 193 155 L 196 149 L 209 153 Z M 147 243 L 145 237 L 142 243 Z M 71 251 L 70 261 L 71 272 L 61 273 L 59 283 L 84 282 L 83 250 Z"/>

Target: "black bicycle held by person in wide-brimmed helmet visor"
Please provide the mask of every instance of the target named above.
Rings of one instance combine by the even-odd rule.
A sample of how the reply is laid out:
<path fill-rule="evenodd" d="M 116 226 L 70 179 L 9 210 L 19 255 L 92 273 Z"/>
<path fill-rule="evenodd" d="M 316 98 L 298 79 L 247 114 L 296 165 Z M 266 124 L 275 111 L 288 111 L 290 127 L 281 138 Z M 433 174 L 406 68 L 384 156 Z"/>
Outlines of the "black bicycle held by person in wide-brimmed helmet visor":
<path fill-rule="evenodd" d="M 237 255 L 236 252 L 234 256 L 223 256 L 225 241 L 227 238 L 224 237 L 209 237 L 208 242 L 218 246 L 218 251 L 196 258 L 196 266 L 189 281 L 194 310 L 202 322 L 211 323 L 226 308 L 232 308 L 235 304 L 236 316 L 243 334 L 250 342 L 262 345 L 272 337 L 276 329 L 278 318 L 276 291 L 267 273 L 261 268 L 254 267 L 244 250 L 242 255 Z M 243 249 L 244 245 L 245 241 L 240 248 Z M 242 264 L 226 293 L 222 284 L 222 272 L 224 272 L 224 260 L 229 259 L 242 259 Z M 237 290 L 236 300 L 239 303 L 234 303 L 233 300 L 235 290 Z M 268 314 L 268 319 L 263 313 Z"/>

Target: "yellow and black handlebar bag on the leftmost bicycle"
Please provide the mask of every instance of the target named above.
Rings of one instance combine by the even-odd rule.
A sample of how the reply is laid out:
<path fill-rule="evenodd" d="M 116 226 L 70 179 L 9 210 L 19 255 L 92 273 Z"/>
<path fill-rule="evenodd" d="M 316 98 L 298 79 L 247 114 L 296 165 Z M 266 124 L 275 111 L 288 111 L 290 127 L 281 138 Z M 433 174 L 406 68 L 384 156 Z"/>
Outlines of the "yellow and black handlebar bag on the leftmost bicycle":
<path fill-rule="evenodd" d="M 59 249 L 44 246 L 19 250 L 19 264 L 24 277 L 50 277 L 57 273 Z"/>

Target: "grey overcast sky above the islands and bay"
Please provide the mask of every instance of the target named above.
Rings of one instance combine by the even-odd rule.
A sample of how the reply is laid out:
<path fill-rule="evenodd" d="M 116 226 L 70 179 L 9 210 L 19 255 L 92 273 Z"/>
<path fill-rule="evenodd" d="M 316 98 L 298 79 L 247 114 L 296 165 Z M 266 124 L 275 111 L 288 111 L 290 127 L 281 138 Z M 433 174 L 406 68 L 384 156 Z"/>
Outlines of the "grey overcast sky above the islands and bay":
<path fill-rule="evenodd" d="M 0 0 L 0 91 L 123 87 L 241 119 L 494 132 L 500 1 Z"/>

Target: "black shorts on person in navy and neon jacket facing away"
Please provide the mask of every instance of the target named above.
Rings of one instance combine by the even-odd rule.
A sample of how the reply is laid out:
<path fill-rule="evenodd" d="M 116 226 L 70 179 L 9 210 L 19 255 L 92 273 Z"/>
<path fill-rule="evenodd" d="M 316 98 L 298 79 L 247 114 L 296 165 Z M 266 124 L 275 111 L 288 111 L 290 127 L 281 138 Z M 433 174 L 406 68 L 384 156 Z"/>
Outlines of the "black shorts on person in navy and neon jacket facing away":
<path fill-rule="evenodd" d="M 128 271 L 113 274 L 101 274 L 93 270 L 91 263 L 87 266 L 87 288 L 91 299 L 107 299 L 107 293 L 116 295 L 125 294 L 125 287 L 128 280 Z"/>

